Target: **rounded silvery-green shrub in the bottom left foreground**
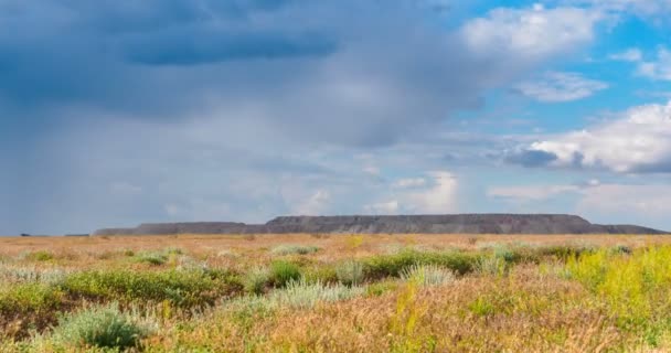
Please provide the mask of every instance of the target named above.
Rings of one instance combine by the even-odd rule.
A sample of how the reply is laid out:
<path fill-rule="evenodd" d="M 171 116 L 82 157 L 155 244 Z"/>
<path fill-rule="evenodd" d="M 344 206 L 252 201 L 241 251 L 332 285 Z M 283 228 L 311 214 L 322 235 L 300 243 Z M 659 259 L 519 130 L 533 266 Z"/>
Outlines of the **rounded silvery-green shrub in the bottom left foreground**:
<path fill-rule="evenodd" d="M 92 308 L 63 317 L 53 331 L 57 342 L 79 347 L 125 350 L 138 347 L 150 330 L 136 318 L 123 313 L 118 304 Z"/>

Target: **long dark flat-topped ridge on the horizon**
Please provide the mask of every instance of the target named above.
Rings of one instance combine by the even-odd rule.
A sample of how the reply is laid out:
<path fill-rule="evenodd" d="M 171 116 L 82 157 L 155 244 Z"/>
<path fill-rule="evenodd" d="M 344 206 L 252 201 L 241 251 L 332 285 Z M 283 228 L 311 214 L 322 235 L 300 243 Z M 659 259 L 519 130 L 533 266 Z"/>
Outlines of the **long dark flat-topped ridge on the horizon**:
<path fill-rule="evenodd" d="M 265 224 L 235 222 L 147 223 L 103 228 L 94 235 L 175 234 L 668 234 L 637 225 L 593 224 L 567 214 L 449 214 L 388 216 L 283 216 Z"/>

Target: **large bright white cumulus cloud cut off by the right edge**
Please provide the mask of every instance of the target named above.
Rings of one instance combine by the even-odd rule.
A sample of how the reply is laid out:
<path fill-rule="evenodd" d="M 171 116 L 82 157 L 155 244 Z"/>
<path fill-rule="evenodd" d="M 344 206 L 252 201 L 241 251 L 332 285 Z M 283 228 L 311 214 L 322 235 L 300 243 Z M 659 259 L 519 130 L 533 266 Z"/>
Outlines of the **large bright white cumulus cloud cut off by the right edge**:
<path fill-rule="evenodd" d="M 671 101 L 629 109 L 622 118 L 532 143 L 554 167 L 606 168 L 616 172 L 671 171 Z"/>

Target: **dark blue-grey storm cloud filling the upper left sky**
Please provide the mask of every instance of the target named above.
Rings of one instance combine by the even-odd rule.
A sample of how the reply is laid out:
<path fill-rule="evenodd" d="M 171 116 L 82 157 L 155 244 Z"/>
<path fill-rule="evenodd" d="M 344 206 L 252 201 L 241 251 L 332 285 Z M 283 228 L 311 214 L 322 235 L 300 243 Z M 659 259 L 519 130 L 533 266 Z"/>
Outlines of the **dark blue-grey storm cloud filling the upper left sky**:
<path fill-rule="evenodd" d="M 34 121 L 254 110 L 294 141 L 390 145 L 477 107 L 502 76 L 423 4 L 4 0 L 0 101 Z"/>

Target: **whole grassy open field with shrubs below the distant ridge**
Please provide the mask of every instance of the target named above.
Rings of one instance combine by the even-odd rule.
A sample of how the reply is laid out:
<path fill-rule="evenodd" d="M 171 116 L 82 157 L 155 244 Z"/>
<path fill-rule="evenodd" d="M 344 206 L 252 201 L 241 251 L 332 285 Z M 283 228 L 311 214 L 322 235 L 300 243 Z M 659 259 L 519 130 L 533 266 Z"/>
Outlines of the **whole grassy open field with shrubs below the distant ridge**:
<path fill-rule="evenodd" d="M 671 237 L 0 238 L 0 352 L 667 352 Z"/>

